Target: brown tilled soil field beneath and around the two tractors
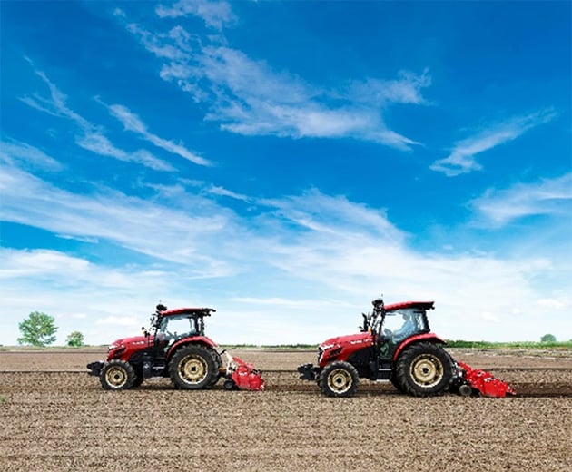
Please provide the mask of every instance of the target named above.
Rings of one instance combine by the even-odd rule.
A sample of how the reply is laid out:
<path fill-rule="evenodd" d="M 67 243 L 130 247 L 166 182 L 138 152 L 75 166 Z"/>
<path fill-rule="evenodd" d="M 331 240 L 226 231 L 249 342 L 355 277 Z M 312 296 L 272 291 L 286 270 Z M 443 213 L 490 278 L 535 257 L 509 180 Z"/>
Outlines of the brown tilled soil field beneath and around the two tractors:
<path fill-rule="evenodd" d="M 85 369 L 104 350 L 0 351 L 0 470 L 572 470 L 572 352 L 451 353 L 518 396 L 325 398 L 294 371 L 313 351 L 269 350 L 232 351 L 263 392 L 107 392 Z"/>

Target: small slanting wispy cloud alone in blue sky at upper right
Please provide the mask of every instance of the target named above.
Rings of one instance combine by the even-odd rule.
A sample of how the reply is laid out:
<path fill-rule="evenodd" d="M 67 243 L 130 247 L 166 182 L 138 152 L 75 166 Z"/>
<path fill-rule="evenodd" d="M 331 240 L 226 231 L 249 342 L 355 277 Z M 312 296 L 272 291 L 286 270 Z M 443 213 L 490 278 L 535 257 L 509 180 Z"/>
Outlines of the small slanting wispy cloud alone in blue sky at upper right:
<path fill-rule="evenodd" d="M 514 141 L 528 130 L 550 122 L 556 115 L 554 110 L 547 109 L 513 117 L 502 123 L 495 123 L 480 133 L 456 143 L 448 157 L 433 162 L 430 168 L 433 171 L 443 172 L 449 177 L 479 171 L 482 165 L 477 162 L 478 154 Z"/>

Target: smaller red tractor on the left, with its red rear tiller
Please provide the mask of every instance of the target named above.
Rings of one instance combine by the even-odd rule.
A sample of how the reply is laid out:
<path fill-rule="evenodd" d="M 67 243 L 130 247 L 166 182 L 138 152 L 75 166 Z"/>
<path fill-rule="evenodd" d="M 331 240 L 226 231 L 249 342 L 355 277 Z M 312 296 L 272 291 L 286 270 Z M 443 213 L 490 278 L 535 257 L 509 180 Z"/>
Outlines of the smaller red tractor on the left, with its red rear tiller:
<path fill-rule="evenodd" d="M 214 311 L 157 305 L 151 328 L 143 328 L 143 336 L 114 341 L 104 362 L 87 365 L 89 375 L 99 377 L 106 390 L 138 387 L 152 377 L 170 377 L 176 388 L 190 390 L 212 387 L 222 377 L 229 390 L 263 389 L 260 371 L 228 353 L 223 365 L 217 344 L 204 335 L 204 317 Z"/>

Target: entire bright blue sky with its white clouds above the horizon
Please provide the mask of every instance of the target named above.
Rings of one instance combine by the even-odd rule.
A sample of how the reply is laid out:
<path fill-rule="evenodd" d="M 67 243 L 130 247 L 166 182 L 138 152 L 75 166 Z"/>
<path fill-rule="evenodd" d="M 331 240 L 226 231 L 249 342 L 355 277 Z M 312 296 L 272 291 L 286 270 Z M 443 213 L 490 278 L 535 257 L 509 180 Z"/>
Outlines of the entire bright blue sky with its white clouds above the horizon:
<path fill-rule="evenodd" d="M 6 2 L 0 343 L 160 300 L 311 343 L 572 339 L 569 2 Z"/>

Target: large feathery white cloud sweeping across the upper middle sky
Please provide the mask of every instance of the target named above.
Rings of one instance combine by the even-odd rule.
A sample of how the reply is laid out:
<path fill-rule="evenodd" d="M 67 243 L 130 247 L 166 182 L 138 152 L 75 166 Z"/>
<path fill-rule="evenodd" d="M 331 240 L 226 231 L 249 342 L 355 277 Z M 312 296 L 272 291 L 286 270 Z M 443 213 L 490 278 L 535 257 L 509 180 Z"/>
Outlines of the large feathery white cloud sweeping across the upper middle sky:
<path fill-rule="evenodd" d="M 123 22 L 125 19 L 120 15 Z M 124 23 L 147 51 L 163 61 L 161 77 L 208 103 L 205 119 L 244 135 L 292 138 L 354 138 L 407 151 L 416 141 L 391 130 L 383 114 L 399 103 L 427 104 L 421 91 L 428 71 L 401 71 L 397 79 L 348 81 L 339 90 L 308 84 L 297 74 L 276 72 L 265 61 L 188 34 Z M 366 98 L 367 97 L 367 98 Z M 368 100 L 370 98 L 370 100 Z"/>

